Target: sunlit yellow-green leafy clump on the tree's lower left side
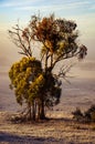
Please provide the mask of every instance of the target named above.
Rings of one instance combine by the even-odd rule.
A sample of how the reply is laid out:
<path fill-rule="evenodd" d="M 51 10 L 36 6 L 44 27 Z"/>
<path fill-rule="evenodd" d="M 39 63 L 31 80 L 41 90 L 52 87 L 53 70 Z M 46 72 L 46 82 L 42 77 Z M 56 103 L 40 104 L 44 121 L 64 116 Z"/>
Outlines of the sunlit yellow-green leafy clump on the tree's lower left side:
<path fill-rule="evenodd" d="M 14 88 L 18 103 L 22 104 L 23 100 L 25 102 L 29 101 L 30 85 L 41 72 L 41 63 L 34 58 L 22 58 L 20 62 L 11 66 L 9 76 L 11 85 Z"/>

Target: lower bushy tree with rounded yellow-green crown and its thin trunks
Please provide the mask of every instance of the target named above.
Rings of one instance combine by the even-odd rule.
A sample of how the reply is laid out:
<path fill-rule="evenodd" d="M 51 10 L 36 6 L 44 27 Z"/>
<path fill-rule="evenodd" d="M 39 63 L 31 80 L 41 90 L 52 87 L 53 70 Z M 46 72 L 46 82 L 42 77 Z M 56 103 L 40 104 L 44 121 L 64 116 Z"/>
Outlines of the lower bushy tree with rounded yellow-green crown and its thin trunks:
<path fill-rule="evenodd" d="M 17 102 L 27 105 L 25 115 L 29 120 L 43 119 L 45 115 L 43 107 L 54 106 L 60 102 L 59 81 L 55 81 L 52 74 L 45 76 L 41 62 L 34 58 L 22 58 L 14 63 L 9 71 L 9 76 Z"/>

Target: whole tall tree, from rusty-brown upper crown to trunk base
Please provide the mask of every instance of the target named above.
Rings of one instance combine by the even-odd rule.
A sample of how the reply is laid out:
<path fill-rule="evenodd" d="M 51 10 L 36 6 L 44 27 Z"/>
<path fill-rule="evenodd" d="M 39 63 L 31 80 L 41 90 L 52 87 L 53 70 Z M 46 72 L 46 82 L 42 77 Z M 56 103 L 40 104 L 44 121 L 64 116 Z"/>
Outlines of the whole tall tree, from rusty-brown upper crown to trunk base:
<path fill-rule="evenodd" d="M 55 19 L 54 14 L 42 19 L 33 16 L 25 29 L 17 24 L 9 31 L 14 44 L 21 49 L 19 53 L 25 55 L 12 65 L 9 76 L 17 101 L 20 104 L 25 101 L 30 105 L 30 117 L 33 120 L 36 115 L 38 119 L 45 119 L 45 107 L 60 102 L 60 78 L 65 78 L 66 69 L 70 69 L 64 66 L 63 60 L 74 56 L 81 60 L 86 55 L 86 47 L 76 42 L 76 27 L 74 21 Z M 40 60 L 34 58 L 35 49 L 40 52 Z M 55 73 L 54 68 L 60 62 L 63 64 L 59 65 L 59 72 Z"/>

